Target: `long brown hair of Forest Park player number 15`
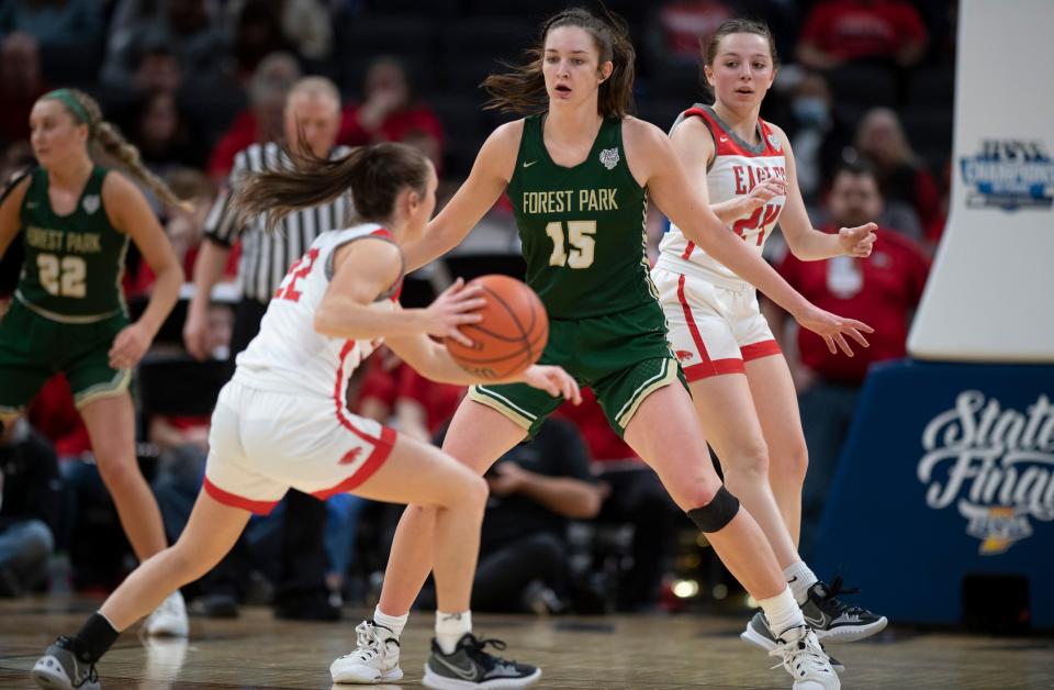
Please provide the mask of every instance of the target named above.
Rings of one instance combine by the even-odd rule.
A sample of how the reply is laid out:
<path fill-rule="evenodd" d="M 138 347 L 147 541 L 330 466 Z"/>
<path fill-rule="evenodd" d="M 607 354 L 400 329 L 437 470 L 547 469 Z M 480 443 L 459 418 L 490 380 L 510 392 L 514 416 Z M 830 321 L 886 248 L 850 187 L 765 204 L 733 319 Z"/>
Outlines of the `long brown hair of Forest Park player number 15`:
<path fill-rule="evenodd" d="M 602 5 L 603 7 L 603 5 Z M 570 8 L 550 16 L 541 25 L 538 44 L 526 52 L 520 65 L 505 64 L 509 71 L 491 75 L 483 80 L 490 94 L 484 108 L 515 114 L 532 114 L 549 109 L 549 93 L 541 67 L 546 56 L 546 38 L 560 26 L 579 26 L 593 37 L 599 53 L 599 65 L 610 60 L 614 69 L 597 94 L 597 112 L 605 116 L 625 118 L 633 110 L 633 63 L 637 53 L 629 41 L 626 21 L 604 9 L 597 16 L 583 8 Z"/>

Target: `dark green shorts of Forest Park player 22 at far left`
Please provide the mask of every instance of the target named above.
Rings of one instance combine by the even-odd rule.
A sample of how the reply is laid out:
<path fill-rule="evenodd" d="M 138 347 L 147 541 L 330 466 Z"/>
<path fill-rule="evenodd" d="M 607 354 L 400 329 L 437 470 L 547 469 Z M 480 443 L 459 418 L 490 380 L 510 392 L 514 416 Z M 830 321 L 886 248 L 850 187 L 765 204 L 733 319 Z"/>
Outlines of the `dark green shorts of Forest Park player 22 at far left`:
<path fill-rule="evenodd" d="M 82 408 L 127 389 L 131 369 L 110 368 L 110 347 L 128 324 L 124 314 L 96 323 L 59 323 L 18 299 L 0 321 L 0 413 L 21 412 L 47 379 L 61 371 Z"/>

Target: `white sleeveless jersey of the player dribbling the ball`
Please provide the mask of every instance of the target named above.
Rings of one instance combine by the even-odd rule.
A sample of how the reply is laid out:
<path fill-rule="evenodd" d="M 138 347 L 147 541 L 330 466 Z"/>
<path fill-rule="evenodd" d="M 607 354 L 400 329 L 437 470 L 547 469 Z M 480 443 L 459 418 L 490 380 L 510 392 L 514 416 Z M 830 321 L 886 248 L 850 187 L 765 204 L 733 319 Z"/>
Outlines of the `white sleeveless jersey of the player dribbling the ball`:
<path fill-rule="evenodd" d="M 315 331 L 314 321 L 333 278 L 333 255 L 368 236 L 392 241 L 386 230 L 372 223 L 318 235 L 271 297 L 260 332 L 236 359 L 235 380 L 261 390 L 332 397 L 344 408 L 348 378 L 380 340 L 327 337 Z M 371 308 L 395 309 L 401 287 L 402 279 Z"/>

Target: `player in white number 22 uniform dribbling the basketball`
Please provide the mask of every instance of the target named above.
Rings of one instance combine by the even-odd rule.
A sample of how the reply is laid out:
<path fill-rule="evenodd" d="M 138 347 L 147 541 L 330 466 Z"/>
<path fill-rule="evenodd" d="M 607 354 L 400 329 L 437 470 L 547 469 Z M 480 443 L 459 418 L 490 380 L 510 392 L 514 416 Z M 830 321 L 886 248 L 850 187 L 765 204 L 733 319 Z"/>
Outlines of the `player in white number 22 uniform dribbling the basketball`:
<path fill-rule="evenodd" d="M 424 231 L 436 185 L 427 158 L 402 144 L 357 148 L 334 162 L 301 158 L 295 169 L 245 181 L 236 201 L 242 213 L 269 211 L 272 229 L 287 213 L 332 201 L 349 188 L 360 224 L 319 235 L 290 268 L 259 335 L 220 393 L 204 486 L 179 541 L 128 576 L 80 632 L 47 648 L 33 669 L 42 687 L 98 687 L 94 663 L 120 631 L 209 571 L 250 515 L 270 511 L 291 487 L 318 498 L 351 491 L 438 510 L 440 611 L 429 668 L 455 675 L 426 671 L 426 686 L 491 687 L 487 681 L 500 678 L 503 688 L 520 688 L 539 678 L 536 667 L 485 653 L 490 641 L 471 632 L 469 599 L 486 483 L 438 448 L 357 416 L 345 401 L 348 377 L 380 338 L 429 378 L 476 382 L 429 336 L 471 344 L 457 327 L 480 320 L 473 313 L 483 304 L 478 290 L 459 280 L 427 309 L 401 310 L 395 302 L 403 275 L 399 244 Z M 509 380 L 581 400 L 574 380 L 559 367 L 532 366 Z M 369 623 L 357 632 L 372 635 Z M 374 652 L 383 654 L 383 646 L 378 641 Z"/>

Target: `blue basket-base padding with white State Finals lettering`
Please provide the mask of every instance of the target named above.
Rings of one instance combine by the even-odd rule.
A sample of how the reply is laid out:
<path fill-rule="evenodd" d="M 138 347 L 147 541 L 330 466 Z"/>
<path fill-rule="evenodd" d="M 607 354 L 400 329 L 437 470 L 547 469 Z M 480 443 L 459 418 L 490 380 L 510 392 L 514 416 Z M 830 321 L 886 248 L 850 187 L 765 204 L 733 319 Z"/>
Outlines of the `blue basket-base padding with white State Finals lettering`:
<path fill-rule="evenodd" d="M 1029 580 L 1054 628 L 1054 367 L 875 367 L 831 483 L 817 545 L 868 609 L 957 623 L 971 575 Z"/>

